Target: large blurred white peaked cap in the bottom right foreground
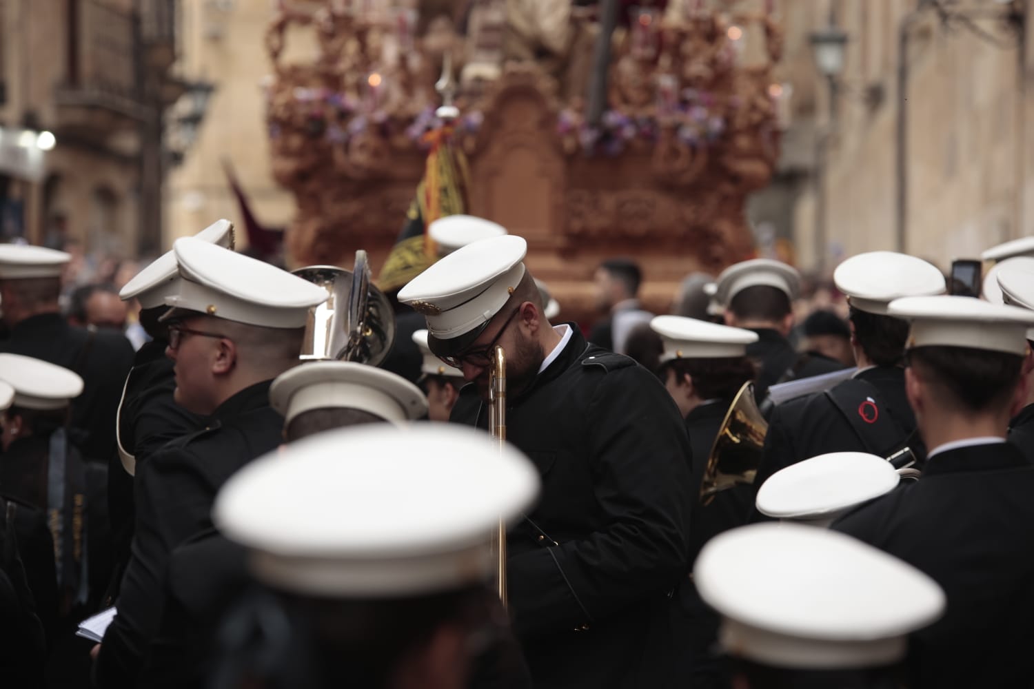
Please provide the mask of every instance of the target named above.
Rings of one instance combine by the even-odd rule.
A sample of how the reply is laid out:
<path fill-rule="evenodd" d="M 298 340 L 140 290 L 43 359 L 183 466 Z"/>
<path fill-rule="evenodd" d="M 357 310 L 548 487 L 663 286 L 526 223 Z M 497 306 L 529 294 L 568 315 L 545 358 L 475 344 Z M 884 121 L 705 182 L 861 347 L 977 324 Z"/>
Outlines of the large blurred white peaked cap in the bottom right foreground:
<path fill-rule="evenodd" d="M 941 588 L 915 567 L 835 531 L 755 524 L 704 545 L 700 596 L 723 619 L 732 654 L 797 669 L 878 667 L 944 612 Z"/>

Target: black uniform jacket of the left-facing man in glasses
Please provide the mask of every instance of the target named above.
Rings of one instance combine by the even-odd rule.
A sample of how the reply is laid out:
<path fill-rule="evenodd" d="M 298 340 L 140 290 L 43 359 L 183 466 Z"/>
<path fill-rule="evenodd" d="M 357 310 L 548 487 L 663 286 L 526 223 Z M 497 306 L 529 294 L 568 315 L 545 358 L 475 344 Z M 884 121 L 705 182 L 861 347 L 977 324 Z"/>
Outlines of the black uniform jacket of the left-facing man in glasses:
<path fill-rule="evenodd" d="M 170 442 L 138 466 L 136 528 L 119 613 L 97 659 L 98 686 L 134 686 L 161 620 L 173 550 L 211 529 L 212 503 L 223 482 L 280 443 L 283 419 L 269 406 L 271 382 L 237 393 L 219 405 L 206 430 Z"/>

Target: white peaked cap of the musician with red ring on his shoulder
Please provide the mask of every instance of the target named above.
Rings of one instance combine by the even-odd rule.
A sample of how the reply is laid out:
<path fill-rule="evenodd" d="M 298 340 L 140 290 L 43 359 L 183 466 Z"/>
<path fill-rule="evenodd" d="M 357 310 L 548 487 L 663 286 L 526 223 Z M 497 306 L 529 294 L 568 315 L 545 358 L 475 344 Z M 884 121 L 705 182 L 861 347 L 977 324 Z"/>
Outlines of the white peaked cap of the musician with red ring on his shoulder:
<path fill-rule="evenodd" d="M 930 296 L 946 290 L 944 275 L 933 263 L 893 251 L 851 256 L 833 271 L 837 288 L 856 309 L 887 314 L 887 305 L 902 296 Z"/>

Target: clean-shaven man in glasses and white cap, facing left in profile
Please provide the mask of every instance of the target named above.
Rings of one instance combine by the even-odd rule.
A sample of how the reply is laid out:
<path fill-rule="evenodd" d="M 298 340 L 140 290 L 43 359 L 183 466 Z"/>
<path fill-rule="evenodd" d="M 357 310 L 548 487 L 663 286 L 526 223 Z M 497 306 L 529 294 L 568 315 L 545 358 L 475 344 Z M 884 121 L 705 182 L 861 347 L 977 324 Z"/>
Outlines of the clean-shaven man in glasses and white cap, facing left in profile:
<path fill-rule="evenodd" d="M 208 424 L 138 467 L 135 532 L 97 658 L 100 687 L 135 686 L 161 619 L 170 554 L 212 527 L 226 478 L 279 444 L 283 420 L 269 388 L 298 364 L 308 310 L 327 299 L 322 287 L 200 239 L 178 240 L 174 251 L 180 280 L 162 316 L 174 400 Z"/>

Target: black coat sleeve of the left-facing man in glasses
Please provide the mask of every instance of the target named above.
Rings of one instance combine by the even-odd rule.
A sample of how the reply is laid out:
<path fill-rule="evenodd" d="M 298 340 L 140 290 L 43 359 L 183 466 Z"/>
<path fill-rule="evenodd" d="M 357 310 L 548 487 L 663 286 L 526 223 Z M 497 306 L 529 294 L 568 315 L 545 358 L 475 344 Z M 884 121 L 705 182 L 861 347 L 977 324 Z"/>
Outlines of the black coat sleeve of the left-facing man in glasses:
<path fill-rule="evenodd" d="M 190 451 L 166 448 L 138 467 L 136 527 L 122 577 L 118 615 L 97 658 L 97 686 L 134 686 L 157 633 L 173 550 L 210 526 L 215 489 Z"/>

